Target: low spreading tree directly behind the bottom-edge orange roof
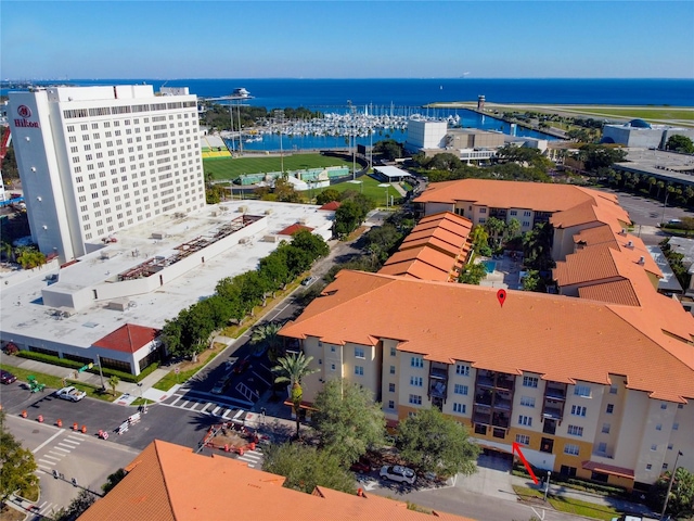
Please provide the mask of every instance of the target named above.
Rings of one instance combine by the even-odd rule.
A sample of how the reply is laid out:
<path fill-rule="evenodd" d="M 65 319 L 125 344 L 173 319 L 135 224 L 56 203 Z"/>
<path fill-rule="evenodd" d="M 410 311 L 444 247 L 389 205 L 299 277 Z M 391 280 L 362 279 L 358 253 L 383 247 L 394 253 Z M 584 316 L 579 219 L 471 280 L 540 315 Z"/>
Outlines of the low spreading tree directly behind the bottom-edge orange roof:
<path fill-rule="evenodd" d="M 284 486 L 311 494 L 317 486 L 355 494 L 355 476 L 327 450 L 298 443 L 270 445 L 265 450 L 262 470 L 284 475 Z"/>

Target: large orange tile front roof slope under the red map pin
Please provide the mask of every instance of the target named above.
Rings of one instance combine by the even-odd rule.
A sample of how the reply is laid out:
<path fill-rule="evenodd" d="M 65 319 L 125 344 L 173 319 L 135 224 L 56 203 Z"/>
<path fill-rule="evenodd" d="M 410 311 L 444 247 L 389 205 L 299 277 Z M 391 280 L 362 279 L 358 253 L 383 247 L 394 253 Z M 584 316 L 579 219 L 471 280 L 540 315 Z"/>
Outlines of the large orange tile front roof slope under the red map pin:
<path fill-rule="evenodd" d="M 343 270 L 281 334 L 335 344 L 395 339 L 400 351 L 446 364 L 560 382 L 607 384 L 609 374 L 625 374 L 630 389 L 652 397 L 694 398 L 694 317 L 650 295 L 634 307 L 509 290 L 501 307 L 492 288 Z M 413 319 L 398 318 L 402 303 Z"/>

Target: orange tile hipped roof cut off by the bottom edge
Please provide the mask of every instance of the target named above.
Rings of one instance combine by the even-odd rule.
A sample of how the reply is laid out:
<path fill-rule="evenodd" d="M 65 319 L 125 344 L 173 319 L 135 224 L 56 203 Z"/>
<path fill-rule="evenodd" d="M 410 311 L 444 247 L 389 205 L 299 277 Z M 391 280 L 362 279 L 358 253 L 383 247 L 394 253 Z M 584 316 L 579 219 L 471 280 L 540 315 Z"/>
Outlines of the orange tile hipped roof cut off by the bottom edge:
<path fill-rule="evenodd" d="M 432 519 L 408 510 L 404 501 L 372 494 L 359 497 L 323 487 L 304 494 L 283 487 L 281 475 L 160 441 L 151 443 L 130 467 L 123 481 L 94 503 L 80 521 Z M 466 519 L 439 511 L 435 516 L 451 521 Z"/>

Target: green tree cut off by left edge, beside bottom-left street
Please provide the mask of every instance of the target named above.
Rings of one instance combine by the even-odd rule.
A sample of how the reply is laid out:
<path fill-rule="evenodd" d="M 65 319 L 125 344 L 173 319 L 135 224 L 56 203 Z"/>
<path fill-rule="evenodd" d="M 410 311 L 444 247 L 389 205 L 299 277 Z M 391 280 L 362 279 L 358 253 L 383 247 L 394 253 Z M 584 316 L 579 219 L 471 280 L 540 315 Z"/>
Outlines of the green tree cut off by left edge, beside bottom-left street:
<path fill-rule="evenodd" d="M 34 454 L 7 430 L 4 411 L 0 410 L 0 504 L 15 492 L 38 486 L 37 470 Z"/>

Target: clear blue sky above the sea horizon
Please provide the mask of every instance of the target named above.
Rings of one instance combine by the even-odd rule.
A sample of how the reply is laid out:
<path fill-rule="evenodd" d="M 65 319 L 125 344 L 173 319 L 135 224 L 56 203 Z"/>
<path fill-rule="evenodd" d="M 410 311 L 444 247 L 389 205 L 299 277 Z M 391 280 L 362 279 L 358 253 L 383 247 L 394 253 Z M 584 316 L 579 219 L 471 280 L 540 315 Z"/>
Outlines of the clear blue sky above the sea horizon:
<path fill-rule="evenodd" d="M 684 1 L 0 1 L 0 75 L 694 78 Z"/>

